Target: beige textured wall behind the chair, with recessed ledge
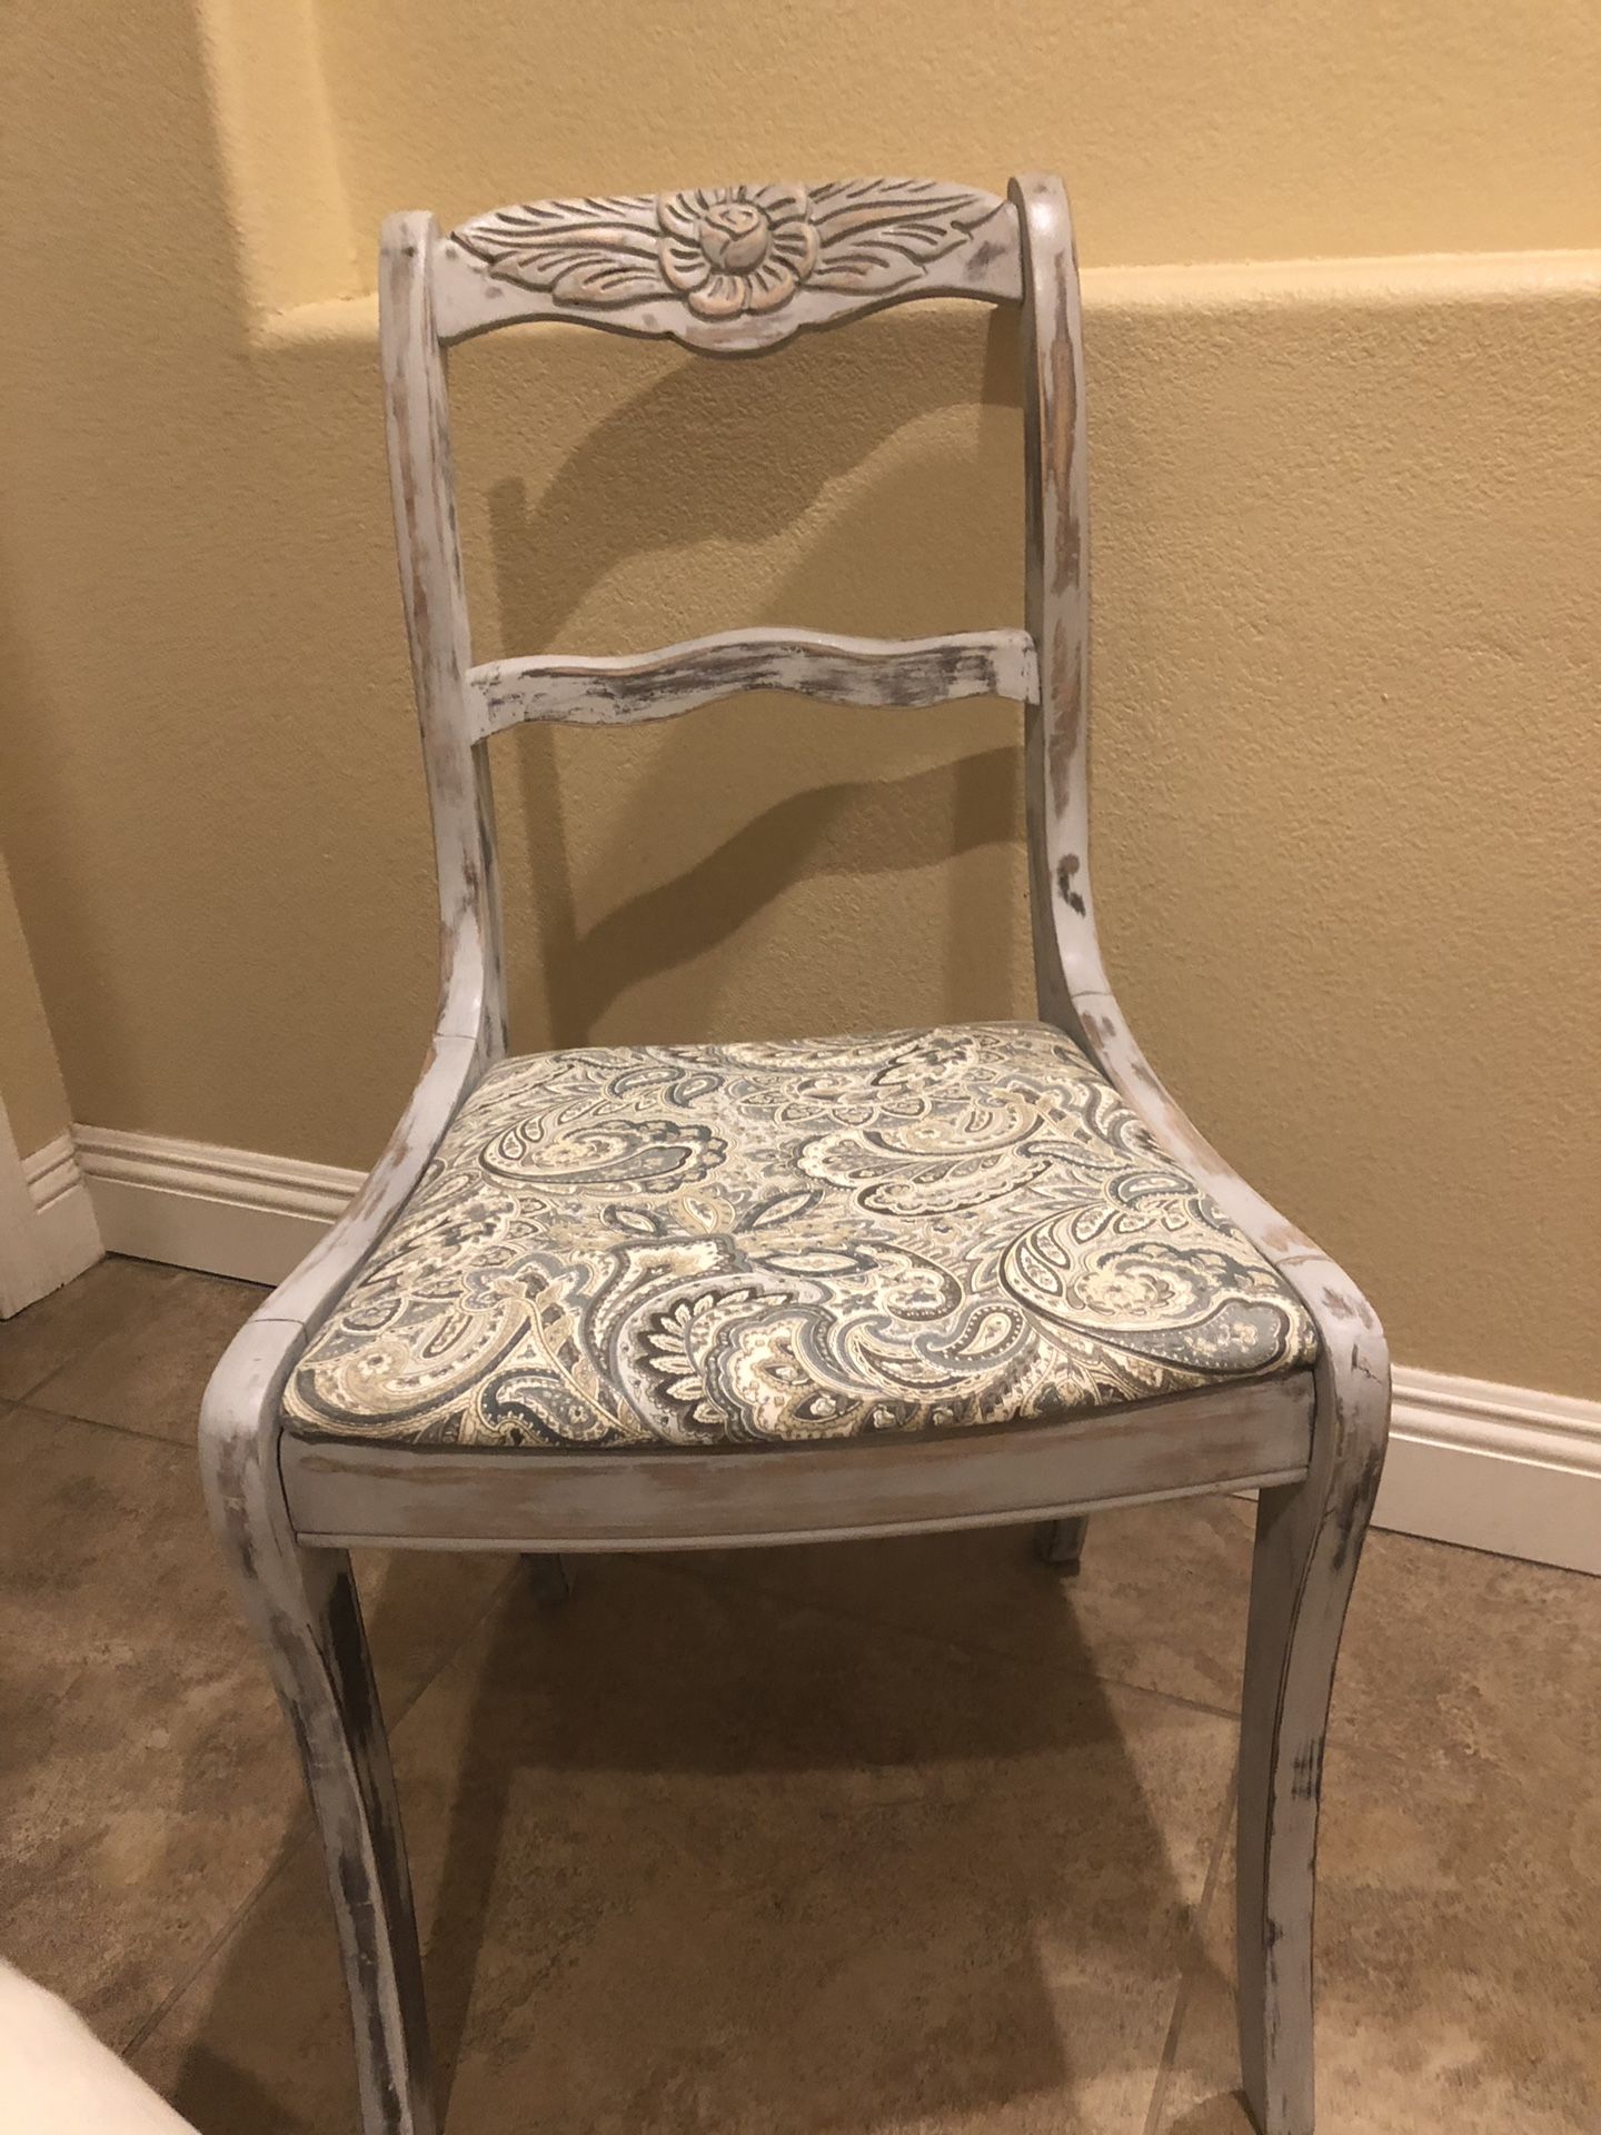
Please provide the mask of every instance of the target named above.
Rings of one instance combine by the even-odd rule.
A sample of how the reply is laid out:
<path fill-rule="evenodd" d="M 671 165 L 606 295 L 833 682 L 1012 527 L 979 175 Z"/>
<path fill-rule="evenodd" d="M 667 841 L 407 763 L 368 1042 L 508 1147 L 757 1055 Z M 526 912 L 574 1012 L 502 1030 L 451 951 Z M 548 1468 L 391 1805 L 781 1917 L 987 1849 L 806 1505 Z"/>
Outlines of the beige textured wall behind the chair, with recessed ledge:
<path fill-rule="evenodd" d="M 1554 250 L 1601 246 L 1595 13 L 79 0 L 2 34 L 0 837 L 77 1119 L 354 1164 L 410 1087 L 386 209 L 1059 167 L 1136 1027 L 1402 1360 L 1601 1390 L 1601 256 Z M 465 350 L 482 653 L 1018 619 L 1012 371 L 948 307 L 734 367 Z M 1025 1012 L 1012 741 L 773 700 L 512 737 L 519 1042 Z"/>

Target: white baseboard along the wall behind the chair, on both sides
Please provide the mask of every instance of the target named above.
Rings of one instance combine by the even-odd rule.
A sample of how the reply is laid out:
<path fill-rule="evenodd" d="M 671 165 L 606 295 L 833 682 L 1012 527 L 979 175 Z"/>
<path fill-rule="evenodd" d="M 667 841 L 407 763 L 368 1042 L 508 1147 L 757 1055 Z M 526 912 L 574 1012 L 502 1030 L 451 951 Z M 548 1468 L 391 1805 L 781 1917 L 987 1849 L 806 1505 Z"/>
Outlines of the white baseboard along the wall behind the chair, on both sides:
<path fill-rule="evenodd" d="M 109 1253 L 254 1283 L 282 1281 L 363 1179 L 109 1127 L 77 1127 L 75 1149 Z M 1405 1535 L 1601 1573 L 1601 1401 L 1396 1366 L 1375 1518 Z"/>

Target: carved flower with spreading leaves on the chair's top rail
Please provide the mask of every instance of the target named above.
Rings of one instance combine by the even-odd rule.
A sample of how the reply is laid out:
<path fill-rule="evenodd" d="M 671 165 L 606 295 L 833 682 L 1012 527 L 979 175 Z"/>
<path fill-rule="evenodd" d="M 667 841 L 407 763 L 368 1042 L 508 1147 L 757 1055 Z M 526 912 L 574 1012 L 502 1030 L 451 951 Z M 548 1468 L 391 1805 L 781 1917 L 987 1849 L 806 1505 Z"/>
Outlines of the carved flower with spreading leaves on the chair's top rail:
<path fill-rule="evenodd" d="M 679 297 L 704 320 L 781 310 L 798 288 L 882 297 L 995 213 L 933 179 L 702 186 L 657 196 L 529 201 L 455 231 L 493 275 L 570 305 Z"/>

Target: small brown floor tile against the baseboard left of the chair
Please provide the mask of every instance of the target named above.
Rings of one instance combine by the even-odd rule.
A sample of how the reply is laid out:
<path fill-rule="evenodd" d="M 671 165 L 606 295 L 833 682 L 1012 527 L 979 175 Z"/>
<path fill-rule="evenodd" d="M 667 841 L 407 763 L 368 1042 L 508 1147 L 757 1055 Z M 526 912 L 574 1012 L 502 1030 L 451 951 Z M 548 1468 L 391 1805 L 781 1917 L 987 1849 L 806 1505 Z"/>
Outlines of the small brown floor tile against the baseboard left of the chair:
<path fill-rule="evenodd" d="M 100 1341 L 36 1388 L 32 1407 L 194 1443 L 205 1381 L 267 1292 L 190 1268 L 162 1272 L 160 1287 L 130 1298 Z"/>

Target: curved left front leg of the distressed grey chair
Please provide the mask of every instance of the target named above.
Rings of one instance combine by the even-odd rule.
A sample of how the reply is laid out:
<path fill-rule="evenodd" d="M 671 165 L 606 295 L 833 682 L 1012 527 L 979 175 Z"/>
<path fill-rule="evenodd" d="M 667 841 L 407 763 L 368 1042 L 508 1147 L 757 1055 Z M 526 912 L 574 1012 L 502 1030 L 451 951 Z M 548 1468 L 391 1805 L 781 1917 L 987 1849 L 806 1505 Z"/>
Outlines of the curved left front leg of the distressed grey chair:
<path fill-rule="evenodd" d="M 344 1550 L 299 1548 L 271 1437 L 201 1433 L 211 1516 L 295 1729 L 322 1840 L 363 2135 L 433 2135 L 427 2011 L 361 1601 Z"/>

